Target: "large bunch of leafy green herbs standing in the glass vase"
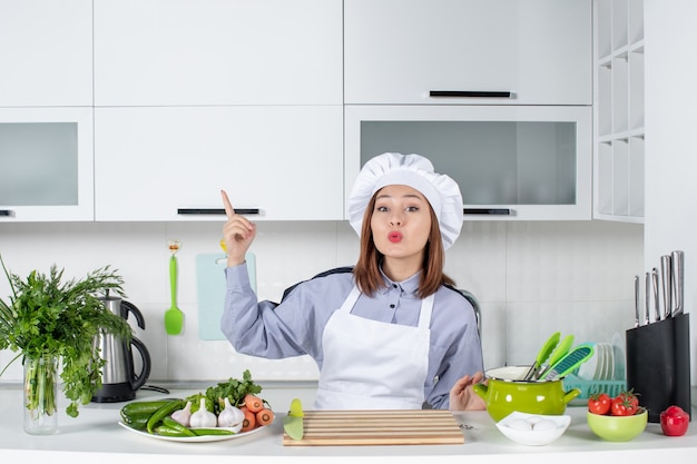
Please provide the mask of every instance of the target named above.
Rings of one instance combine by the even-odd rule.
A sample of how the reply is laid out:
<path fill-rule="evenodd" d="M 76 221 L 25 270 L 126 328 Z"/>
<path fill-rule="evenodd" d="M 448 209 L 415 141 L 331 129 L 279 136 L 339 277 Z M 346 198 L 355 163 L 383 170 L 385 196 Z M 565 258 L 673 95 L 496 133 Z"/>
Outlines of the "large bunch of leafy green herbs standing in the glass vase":
<path fill-rule="evenodd" d="M 9 302 L 0 298 L 0 349 L 19 352 L 8 366 L 20 356 L 24 361 L 46 355 L 61 358 L 60 378 L 70 401 L 66 412 L 77 417 L 79 404 L 88 404 L 101 388 L 105 359 L 92 347 L 95 337 L 112 334 L 129 340 L 132 336 L 126 319 L 108 310 L 99 298 L 109 292 L 125 296 L 124 280 L 105 266 L 81 280 L 63 283 L 63 270 L 56 265 L 48 275 L 32 270 L 21 279 L 8 272 L 1 256 L 0 264 L 12 290 Z M 53 404 L 42 405 L 45 411 L 55 411 L 55 399 L 50 401 Z M 27 406 L 32 404 L 30 401 Z"/>

